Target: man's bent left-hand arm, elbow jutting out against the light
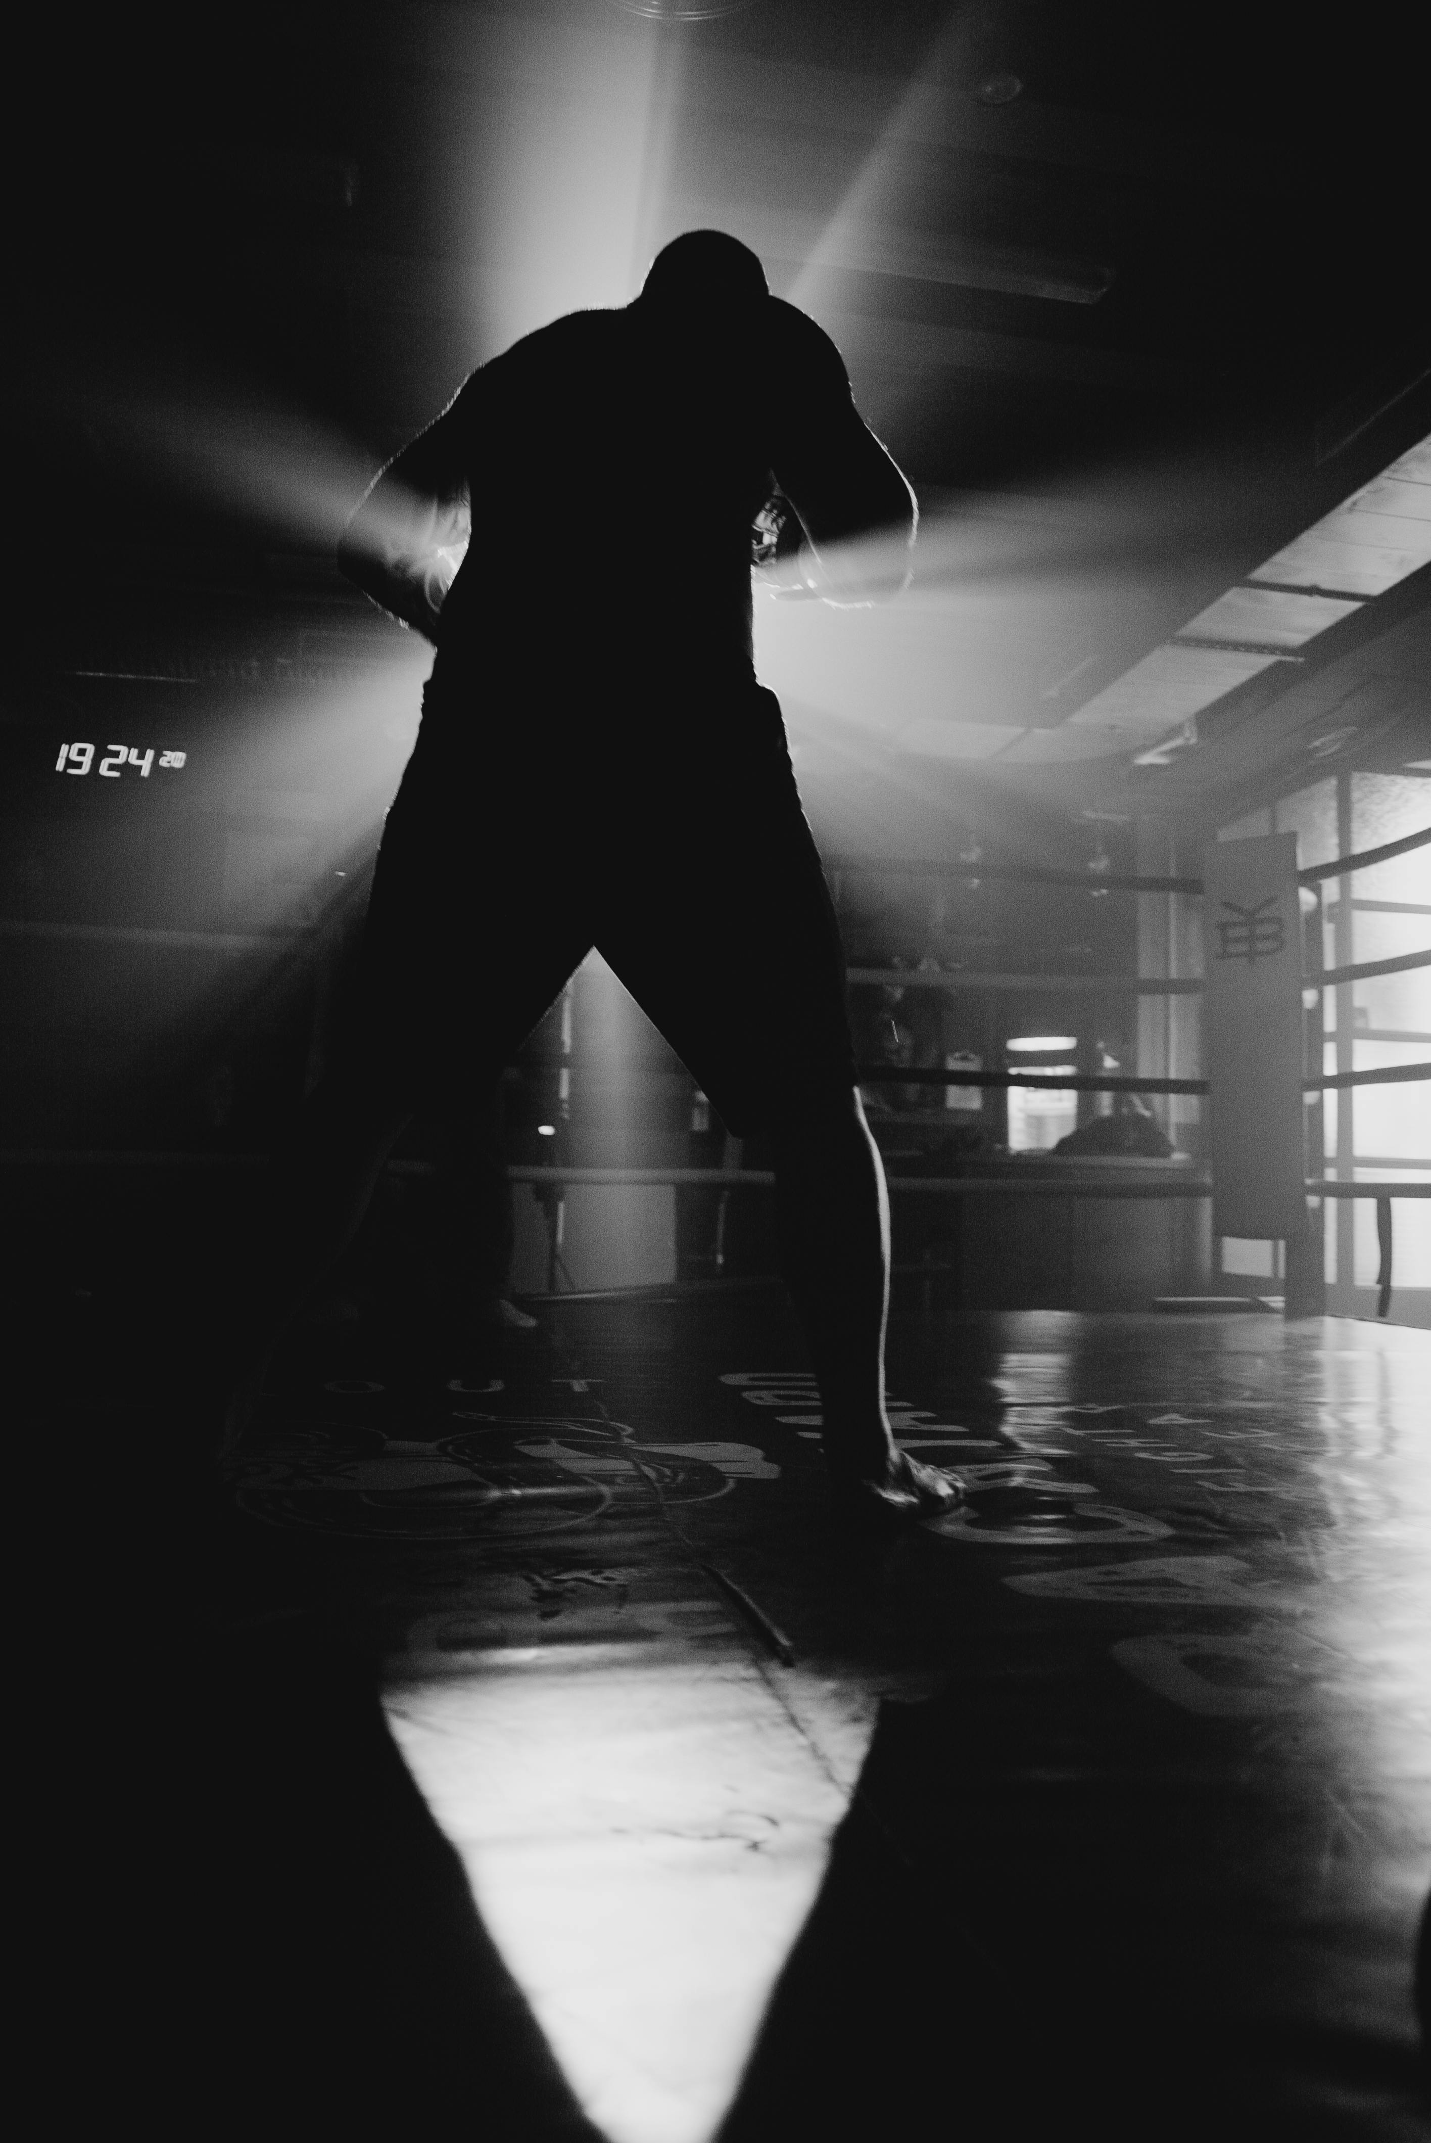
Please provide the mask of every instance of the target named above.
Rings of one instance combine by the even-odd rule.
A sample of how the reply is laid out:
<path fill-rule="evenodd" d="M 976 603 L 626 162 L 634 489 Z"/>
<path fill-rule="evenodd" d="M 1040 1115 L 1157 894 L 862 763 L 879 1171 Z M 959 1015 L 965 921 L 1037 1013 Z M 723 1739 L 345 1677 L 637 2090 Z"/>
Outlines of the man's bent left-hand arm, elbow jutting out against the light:
<path fill-rule="evenodd" d="M 465 394 L 373 478 L 338 540 L 347 579 L 428 641 L 471 536 Z"/>

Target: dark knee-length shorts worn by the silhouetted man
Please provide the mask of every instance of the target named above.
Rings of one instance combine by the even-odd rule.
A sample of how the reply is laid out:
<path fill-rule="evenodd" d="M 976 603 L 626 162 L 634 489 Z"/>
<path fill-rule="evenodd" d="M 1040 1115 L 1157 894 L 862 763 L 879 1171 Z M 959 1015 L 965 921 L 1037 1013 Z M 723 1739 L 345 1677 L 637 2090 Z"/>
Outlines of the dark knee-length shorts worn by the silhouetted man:
<path fill-rule="evenodd" d="M 356 1046 L 461 1108 L 596 945 L 726 1125 L 855 1084 L 844 954 L 780 703 L 754 681 L 424 692 L 388 814 Z M 486 705 L 484 705 L 486 701 Z"/>

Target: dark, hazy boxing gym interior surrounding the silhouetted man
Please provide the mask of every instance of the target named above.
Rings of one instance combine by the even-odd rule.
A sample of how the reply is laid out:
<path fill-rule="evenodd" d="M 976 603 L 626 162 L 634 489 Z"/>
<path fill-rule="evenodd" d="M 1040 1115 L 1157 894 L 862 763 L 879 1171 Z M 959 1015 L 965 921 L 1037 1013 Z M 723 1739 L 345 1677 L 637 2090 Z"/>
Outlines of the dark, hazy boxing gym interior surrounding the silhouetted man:
<path fill-rule="evenodd" d="M 1410 43 L 1270 0 L 28 34 L 0 1183 L 56 2130 L 1427 2134 Z M 831 1511 L 773 1155 L 600 949 L 403 1132 L 238 1436 L 193 1344 L 345 1046 L 431 666 L 347 516 L 701 227 L 921 508 L 893 600 L 754 596 L 889 1419 L 966 1494 L 889 1541 Z M 559 634 L 559 501 L 510 514 Z M 613 542 L 641 634 L 641 469 Z"/>

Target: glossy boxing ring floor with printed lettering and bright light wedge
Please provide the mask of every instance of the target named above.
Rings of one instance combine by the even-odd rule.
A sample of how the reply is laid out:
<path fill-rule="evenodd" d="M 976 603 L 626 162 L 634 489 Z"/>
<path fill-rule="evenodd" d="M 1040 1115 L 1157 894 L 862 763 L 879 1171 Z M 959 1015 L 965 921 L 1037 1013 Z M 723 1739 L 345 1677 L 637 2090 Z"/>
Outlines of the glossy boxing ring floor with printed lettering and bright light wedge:
<path fill-rule="evenodd" d="M 778 1290 L 300 1329 L 219 1492 L 148 1361 L 60 1348 L 30 1498 L 60 2104 L 1431 2132 L 1429 1335 L 895 1320 L 970 1504 L 891 1545 Z"/>

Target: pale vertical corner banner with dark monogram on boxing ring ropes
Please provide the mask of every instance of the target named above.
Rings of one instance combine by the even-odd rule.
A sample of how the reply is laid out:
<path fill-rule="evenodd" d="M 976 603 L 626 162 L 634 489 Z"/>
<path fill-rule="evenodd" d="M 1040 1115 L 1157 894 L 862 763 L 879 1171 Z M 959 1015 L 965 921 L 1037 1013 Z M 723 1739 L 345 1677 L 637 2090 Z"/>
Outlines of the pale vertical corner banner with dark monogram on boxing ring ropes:
<path fill-rule="evenodd" d="M 1307 1162 L 1296 834 L 1206 849 L 1202 928 L 1212 1232 L 1300 1237 Z"/>

